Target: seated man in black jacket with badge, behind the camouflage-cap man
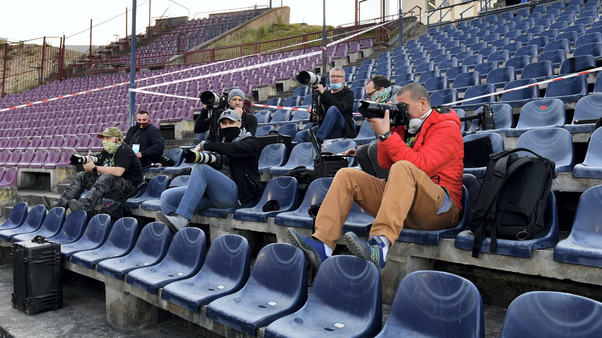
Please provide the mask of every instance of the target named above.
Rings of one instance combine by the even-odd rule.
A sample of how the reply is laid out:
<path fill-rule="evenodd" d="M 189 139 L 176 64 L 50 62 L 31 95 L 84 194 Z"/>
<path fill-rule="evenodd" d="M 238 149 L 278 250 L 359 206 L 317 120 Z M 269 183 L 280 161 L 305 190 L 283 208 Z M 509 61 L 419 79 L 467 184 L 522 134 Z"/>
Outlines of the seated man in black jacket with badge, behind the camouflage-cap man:
<path fill-rule="evenodd" d="M 159 162 L 165 150 L 161 131 L 151 124 L 149 113 L 144 110 L 136 115 L 136 125 L 129 128 L 125 143 L 132 147 L 143 168 Z"/>

